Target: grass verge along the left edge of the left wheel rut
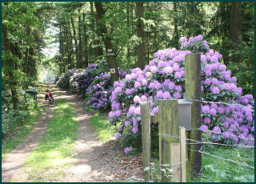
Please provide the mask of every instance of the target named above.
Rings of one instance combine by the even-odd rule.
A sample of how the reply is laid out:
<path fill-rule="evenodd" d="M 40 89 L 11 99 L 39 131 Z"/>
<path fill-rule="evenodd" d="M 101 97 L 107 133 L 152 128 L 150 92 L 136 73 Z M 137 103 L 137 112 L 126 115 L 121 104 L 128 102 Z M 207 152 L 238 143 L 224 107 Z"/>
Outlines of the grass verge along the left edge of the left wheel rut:
<path fill-rule="evenodd" d="M 40 109 L 30 110 L 29 113 L 28 118 L 26 118 L 26 123 L 16 128 L 14 131 L 15 134 L 11 134 L 11 137 L 5 138 L 2 141 L 2 159 L 30 133 L 37 122 L 38 116 L 41 114 Z"/>

